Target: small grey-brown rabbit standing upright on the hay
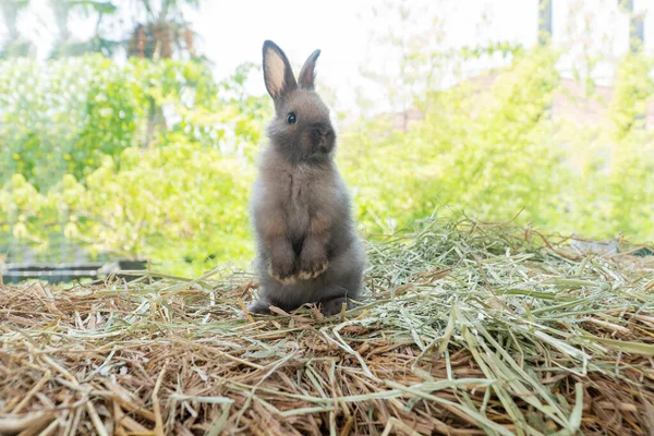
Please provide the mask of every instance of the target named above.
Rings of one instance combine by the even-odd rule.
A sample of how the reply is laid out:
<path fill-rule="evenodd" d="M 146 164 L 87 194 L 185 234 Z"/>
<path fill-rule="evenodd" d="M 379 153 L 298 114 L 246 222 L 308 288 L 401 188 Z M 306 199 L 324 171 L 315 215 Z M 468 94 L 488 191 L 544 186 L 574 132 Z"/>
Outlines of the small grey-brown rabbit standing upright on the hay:
<path fill-rule="evenodd" d="M 314 90 L 314 51 L 295 81 L 284 52 L 264 43 L 264 80 L 275 102 L 269 144 L 251 197 L 257 243 L 259 300 L 249 311 L 269 314 L 318 303 L 326 316 L 361 293 L 365 257 L 350 196 L 334 161 L 336 132 Z"/>

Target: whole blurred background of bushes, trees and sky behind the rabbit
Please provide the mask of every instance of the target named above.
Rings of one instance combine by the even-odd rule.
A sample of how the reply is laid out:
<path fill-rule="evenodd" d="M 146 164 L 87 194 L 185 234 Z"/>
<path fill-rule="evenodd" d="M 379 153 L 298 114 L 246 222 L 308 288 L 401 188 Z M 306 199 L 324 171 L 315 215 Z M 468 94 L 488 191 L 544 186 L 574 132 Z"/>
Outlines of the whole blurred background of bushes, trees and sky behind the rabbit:
<path fill-rule="evenodd" d="M 264 39 L 316 48 L 362 235 L 654 239 L 646 0 L 0 0 L 0 262 L 247 268 Z"/>

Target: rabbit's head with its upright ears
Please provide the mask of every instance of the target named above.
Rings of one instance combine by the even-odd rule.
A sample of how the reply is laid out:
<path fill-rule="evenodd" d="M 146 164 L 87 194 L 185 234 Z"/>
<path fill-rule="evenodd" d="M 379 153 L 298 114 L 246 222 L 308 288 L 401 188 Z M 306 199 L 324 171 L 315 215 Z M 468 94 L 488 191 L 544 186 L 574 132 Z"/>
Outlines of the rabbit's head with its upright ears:
<path fill-rule="evenodd" d="M 314 51 L 295 81 L 284 52 L 272 41 L 264 43 L 264 81 L 275 102 L 275 118 L 268 125 L 271 144 L 292 162 L 322 162 L 332 157 L 336 132 L 329 109 L 314 88 Z"/>

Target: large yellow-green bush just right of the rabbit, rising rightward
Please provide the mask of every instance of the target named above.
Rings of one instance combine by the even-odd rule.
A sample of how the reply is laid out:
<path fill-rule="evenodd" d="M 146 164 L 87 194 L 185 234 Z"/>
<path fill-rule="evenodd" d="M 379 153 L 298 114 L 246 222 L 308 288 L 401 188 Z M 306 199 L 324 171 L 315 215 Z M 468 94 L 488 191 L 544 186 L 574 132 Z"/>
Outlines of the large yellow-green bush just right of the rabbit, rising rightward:
<path fill-rule="evenodd" d="M 524 207 L 524 218 L 546 223 L 560 208 L 547 198 L 561 182 L 553 177 L 560 156 L 545 113 L 558 82 L 556 59 L 536 51 L 498 72 L 489 89 L 463 83 L 431 93 L 424 120 L 408 132 L 375 135 L 364 124 L 351 135 L 342 160 L 354 180 L 374 186 L 360 203 L 364 220 L 384 228 L 392 218 L 403 227 L 448 205 L 453 209 L 440 214 L 485 219 L 509 219 Z"/>

